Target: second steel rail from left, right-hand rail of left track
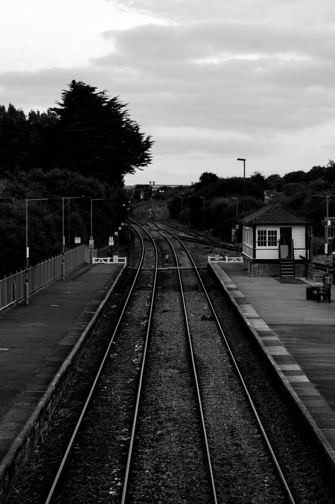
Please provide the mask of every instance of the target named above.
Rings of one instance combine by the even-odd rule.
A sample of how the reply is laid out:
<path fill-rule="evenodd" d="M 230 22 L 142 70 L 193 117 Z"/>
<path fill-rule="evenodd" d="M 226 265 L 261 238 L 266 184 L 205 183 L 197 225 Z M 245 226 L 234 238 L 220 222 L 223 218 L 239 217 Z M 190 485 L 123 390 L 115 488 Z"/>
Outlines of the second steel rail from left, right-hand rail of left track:
<path fill-rule="evenodd" d="M 150 334 L 150 330 L 151 330 L 152 312 L 153 312 L 154 301 L 155 301 L 157 267 L 158 267 L 158 252 L 157 252 L 156 243 L 155 243 L 153 237 L 151 236 L 151 234 L 143 226 L 141 226 L 141 224 L 137 224 L 137 225 L 140 226 L 147 234 L 149 234 L 150 239 L 153 242 L 153 245 L 154 245 L 155 251 L 156 251 L 156 268 L 155 268 L 155 272 L 154 272 L 154 282 L 153 282 L 152 296 L 151 296 L 151 302 L 150 302 L 149 318 L 148 318 L 148 322 L 147 322 L 146 339 L 145 339 L 144 351 L 143 351 L 143 355 L 142 355 L 142 365 L 141 365 L 141 373 L 140 373 L 140 380 L 139 380 L 139 388 L 138 388 L 138 394 L 137 394 L 137 399 L 136 399 L 135 413 L 134 413 L 133 422 L 132 422 L 132 429 L 131 429 L 131 436 L 130 436 L 130 442 L 129 442 L 128 457 L 127 457 L 127 463 L 126 463 L 126 469 L 125 469 L 125 475 L 124 475 L 124 482 L 123 482 L 123 488 L 122 488 L 121 504 L 124 504 L 125 499 L 126 499 L 126 495 L 127 495 L 127 485 L 128 485 L 129 472 L 130 472 L 130 464 L 131 464 L 131 457 L 132 457 L 132 448 L 133 448 L 133 442 L 134 442 L 135 432 L 136 432 L 137 416 L 138 416 L 138 410 L 139 410 L 140 399 L 141 399 L 141 391 L 142 391 L 142 382 L 143 382 L 144 368 L 145 368 L 145 364 L 146 364 L 146 356 L 147 356 L 147 348 L 148 348 L 148 342 L 149 342 L 149 334 Z M 134 226 L 132 226 L 132 227 L 134 227 Z M 142 239 L 142 237 L 141 237 L 141 239 Z M 143 240 L 142 240 L 142 243 L 143 243 Z"/>

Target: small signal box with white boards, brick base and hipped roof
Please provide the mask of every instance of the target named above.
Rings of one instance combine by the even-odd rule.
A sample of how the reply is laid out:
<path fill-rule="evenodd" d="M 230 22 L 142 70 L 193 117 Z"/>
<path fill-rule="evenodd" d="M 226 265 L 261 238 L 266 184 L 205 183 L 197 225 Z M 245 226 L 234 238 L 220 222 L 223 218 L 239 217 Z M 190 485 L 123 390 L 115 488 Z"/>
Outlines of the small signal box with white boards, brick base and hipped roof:
<path fill-rule="evenodd" d="M 240 222 L 243 265 L 251 275 L 313 278 L 310 219 L 280 203 L 269 203 Z"/>

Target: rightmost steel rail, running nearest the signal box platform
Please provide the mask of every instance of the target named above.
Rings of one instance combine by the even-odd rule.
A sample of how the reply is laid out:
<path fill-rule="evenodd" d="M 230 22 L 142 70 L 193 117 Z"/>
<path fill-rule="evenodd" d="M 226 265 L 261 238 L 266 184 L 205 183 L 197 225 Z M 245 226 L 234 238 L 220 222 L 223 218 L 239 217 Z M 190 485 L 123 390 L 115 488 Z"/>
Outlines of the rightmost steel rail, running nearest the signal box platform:
<path fill-rule="evenodd" d="M 241 382 L 241 385 L 242 385 L 242 387 L 243 387 L 243 389 L 244 389 L 244 392 L 245 392 L 245 394 L 246 394 L 246 396 L 247 396 L 247 399 L 248 399 L 248 401 L 249 401 L 249 404 L 250 404 L 250 406 L 251 406 L 251 408 L 252 408 L 252 411 L 253 411 L 253 413 L 254 413 L 254 415 L 255 415 L 255 418 L 256 418 L 256 420 L 257 420 L 258 426 L 259 426 L 259 428 L 260 428 L 260 430 L 261 430 L 261 433 L 262 433 L 262 435 L 263 435 L 263 438 L 264 438 L 264 440 L 265 440 L 266 446 L 267 446 L 267 448 L 269 449 L 269 452 L 270 452 L 270 454 L 271 454 L 271 456 L 272 456 L 272 459 L 273 459 L 273 461 L 274 461 L 274 464 L 275 464 L 275 466 L 276 466 L 277 472 L 278 472 L 278 474 L 279 474 L 279 476 L 280 476 L 280 479 L 281 479 L 281 481 L 282 481 L 282 484 L 283 484 L 283 486 L 284 486 L 284 488 L 285 488 L 285 492 L 286 492 L 286 494 L 287 494 L 287 496 L 288 496 L 288 498 L 289 498 L 289 500 L 290 500 L 291 504 L 295 504 L 295 500 L 294 500 L 294 498 L 293 498 L 293 496 L 292 496 L 291 490 L 290 490 L 290 488 L 289 488 L 289 486 L 288 486 L 288 484 L 287 484 L 287 482 L 286 482 L 286 479 L 285 479 L 284 474 L 283 474 L 283 472 L 282 472 L 282 470 L 281 470 L 281 467 L 280 467 L 280 465 L 279 465 L 279 462 L 278 462 L 278 460 L 277 460 L 277 457 L 276 457 L 276 455 L 275 455 L 275 452 L 274 452 L 274 450 L 273 450 L 273 448 L 272 448 L 272 446 L 271 446 L 270 440 L 269 440 L 269 438 L 268 438 L 268 437 L 267 437 L 267 435 L 266 435 L 266 432 L 265 432 L 265 430 L 264 430 L 264 427 L 263 427 L 263 425 L 262 425 L 262 423 L 261 423 L 261 420 L 260 420 L 260 418 L 259 418 L 259 416 L 258 416 L 257 410 L 256 410 L 256 408 L 255 408 L 255 406 L 254 406 L 254 404 L 253 404 L 253 402 L 252 402 L 251 396 L 250 396 L 250 394 L 249 394 L 249 392 L 248 392 L 248 389 L 247 389 L 247 387 L 246 387 L 246 385 L 245 385 L 245 382 L 244 382 L 244 380 L 243 380 L 243 377 L 242 377 L 242 374 L 241 374 L 240 369 L 239 369 L 239 367 L 238 367 L 238 364 L 237 364 L 237 362 L 236 362 L 236 360 L 235 360 L 235 357 L 234 357 L 234 355 L 233 355 L 233 352 L 232 352 L 232 350 L 231 350 L 231 348 L 230 348 L 230 346 L 229 346 L 229 343 L 228 343 L 228 341 L 227 341 L 227 339 L 226 339 L 226 336 L 225 336 L 225 334 L 224 334 L 224 332 L 223 332 L 223 329 L 222 329 L 222 327 L 221 327 L 221 324 L 220 324 L 219 319 L 218 319 L 218 317 L 217 317 L 217 314 L 216 314 L 216 312 L 215 312 L 214 306 L 213 306 L 213 304 L 212 304 L 212 302 L 211 302 L 211 300 L 210 300 L 210 298 L 209 298 L 209 295 L 208 295 L 208 293 L 207 293 L 207 290 L 206 290 L 206 288 L 205 288 L 205 286 L 204 286 L 204 284 L 203 284 L 203 281 L 202 281 L 202 279 L 201 279 L 201 277 L 200 277 L 200 275 L 199 275 L 199 272 L 197 271 L 197 268 L 196 268 L 196 266 L 195 266 L 195 264 L 194 264 L 194 261 L 193 261 L 193 259 L 192 259 L 192 256 L 191 256 L 191 254 L 190 254 L 190 252 L 189 252 L 188 248 L 186 247 L 186 245 L 185 245 L 185 244 L 181 241 L 181 239 L 180 239 L 180 238 L 178 238 L 178 236 L 176 236 L 176 235 L 174 235 L 174 238 L 176 238 L 178 241 L 180 241 L 180 243 L 182 244 L 182 246 L 185 248 L 185 250 L 186 250 L 186 252 L 187 252 L 187 254 L 188 254 L 189 258 L 190 258 L 190 261 L 191 261 L 191 263 L 192 263 L 192 265 L 193 265 L 193 267 L 194 267 L 194 270 L 196 271 L 197 277 L 198 277 L 198 279 L 199 279 L 199 281 L 200 281 L 200 284 L 201 284 L 201 286 L 202 286 L 202 288 L 203 288 L 203 291 L 204 291 L 204 293 L 205 293 L 205 295 L 206 295 L 206 297 L 207 297 L 207 301 L 208 301 L 208 303 L 209 303 L 209 305 L 210 305 L 210 307 L 211 307 L 211 309 L 212 309 L 212 312 L 213 312 L 213 314 L 214 314 L 214 317 L 215 317 L 216 323 L 217 323 L 217 325 L 218 325 L 218 328 L 219 328 L 219 330 L 220 330 L 220 332 L 221 332 L 221 335 L 222 335 L 222 337 L 223 337 L 223 340 L 224 340 L 225 345 L 226 345 L 226 347 L 227 347 L 227 350 L 228 350 L 228 352 L 229 352 L 229 355 L 230 355 L 231 361 L 232 361 L 232 362 L 233 362 L 233 364 L 234 364 L 235 370 L 236 370 L 236 372 L 237 372 L 237 374 L 238 374 L 238 377 L 239 377 L 239 380 L 240 380 L 240 382 Z"/>

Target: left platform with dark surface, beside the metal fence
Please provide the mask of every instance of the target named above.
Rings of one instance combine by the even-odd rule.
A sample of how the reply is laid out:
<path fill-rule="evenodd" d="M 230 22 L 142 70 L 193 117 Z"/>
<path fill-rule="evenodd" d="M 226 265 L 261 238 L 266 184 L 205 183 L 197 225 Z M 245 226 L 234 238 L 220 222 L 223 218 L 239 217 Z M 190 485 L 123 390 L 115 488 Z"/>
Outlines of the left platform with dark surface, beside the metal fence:
<path fill-rule="evenodd" d="M 0 315 L 0 502 L 125 268 L 84 264 Z"/>

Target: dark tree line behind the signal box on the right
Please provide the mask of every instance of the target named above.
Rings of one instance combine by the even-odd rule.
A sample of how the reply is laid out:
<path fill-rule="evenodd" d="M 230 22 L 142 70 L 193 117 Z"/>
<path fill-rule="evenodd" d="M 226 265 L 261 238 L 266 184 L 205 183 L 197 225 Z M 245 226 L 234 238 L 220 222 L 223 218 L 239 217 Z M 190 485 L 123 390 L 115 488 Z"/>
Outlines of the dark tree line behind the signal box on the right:
<path fill-rule="evenodd" d="M 245 213 L 251 213 L 265 204 L 265 191 L 271 190 L 271 203 L 282 203 L 313 220 L 314 234 L 324 236 L 321 220 L 326 215 L 325 198 L 329 199 L 328 215 L 335 217 L 335 161 L 326 166 L 313 166 L 309 171 L 291 171 L 283 177 L 272 174 L 264 177 L 255 171 L 245 179 Z M 274 191 L 275 190 L 275 191 Z M 183 196 L 183 210 L 181 199 Z M 205 212 L 204 199 L 205 198 Z M 199 181 L 184 188 L 169 202 L 172 217 L 184 224 L 202 229 L 212 229 L 214 236 L 230 241 L 231 229 L 243 217 L 243 177 L 221 178 L 204 172 Z M 237 217 L 236 217 L 237 214 Z M 320 238 L 320 242 L 323 239 Z"/>

